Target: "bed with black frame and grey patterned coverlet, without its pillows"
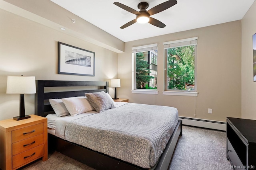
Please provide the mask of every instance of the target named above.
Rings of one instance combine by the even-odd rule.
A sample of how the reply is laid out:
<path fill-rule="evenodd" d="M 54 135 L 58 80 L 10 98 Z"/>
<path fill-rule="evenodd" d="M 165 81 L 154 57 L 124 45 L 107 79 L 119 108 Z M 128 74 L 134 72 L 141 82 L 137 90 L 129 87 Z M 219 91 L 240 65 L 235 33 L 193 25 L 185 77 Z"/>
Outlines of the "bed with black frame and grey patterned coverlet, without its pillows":
<path fill-rule="evenodd" d="M 67 90 L 64 87 L 79 87 L 79 90 Z M 53 88 L 53 90 L 46 92 L 47 88 Z M 85 96 L 85 94 L 105 95 L 108 93 L 108 82 L 36 80 L 36 89 L 35 112 L 36 115 L 49 119 L 48 146 L 50 149 L 57 150 L 97 170 L 168 169 L 178 138 L 182 135 L 182 121 L 177 119 L 178 115 L 167 113 L 171 107 L 121 102 L 115 106 L 116 108 L 103 110 L 102 113 L 97 113 L 99 111 L 95 107 L 97 111 L 92 110 L 83 113 L 84 115 L 70 116 L 72 120 L 65 117 L 65 121 L 63 121 L 61 118 L 61 125 L 57 123 L 64 127 L 62 129 L 65 129 L 64 132 L 61 132 L 51 126 L 54 123 L 50 123 L 50 121 L 56 121 L 54 119 L 56 116 L 48 100 Z M 90 99 L 90 95 L 87 98 Z M 152 111 L 153 107 L 156 107 L 158 111 L 163 110 L 162 114 L 166 114 L 163 116 L 169 116 L 173 123 L 169 121 L 169 118 L 154 117 L 157 114 Z M 172 111 L 175 112 L 175 109 Z M 146 114 L 148 114 L 146 116 L 148 118 L 143 117 Z M 171 117 L 174 118 L 171 119 Z M 142 120 L 145 118 L 148 119 L 146 122 Z M 60 118 L 57 117 L 57 119 Z M 134 121 L 127 123 L 127 120 L 133 119 Z M 119 125 L 117 125 L 118 123 Z M 125 124 L 128 124 L 127 127 Z M 149 126 L 146 126 L 147 124 Z M 138 125 L 140 126 L 138 129 L 144 130 L 136 130 L 134 127 Z M 168 126 L 170 129 L 167 128 Z M 162 127 L 164 128 L 161 129 Z M 159 131 L 164 131 L 165 134 L 161 135 L 160 132 L 158 135 Z M 166 136 L 168 140 L 159 140 L 158 136 Z M 126 149 L 126 147 L 130 148 Z M 159 151 L 158 148 L 162 150 Z M 128 151 L 126 152 L 126 150 Z"/>

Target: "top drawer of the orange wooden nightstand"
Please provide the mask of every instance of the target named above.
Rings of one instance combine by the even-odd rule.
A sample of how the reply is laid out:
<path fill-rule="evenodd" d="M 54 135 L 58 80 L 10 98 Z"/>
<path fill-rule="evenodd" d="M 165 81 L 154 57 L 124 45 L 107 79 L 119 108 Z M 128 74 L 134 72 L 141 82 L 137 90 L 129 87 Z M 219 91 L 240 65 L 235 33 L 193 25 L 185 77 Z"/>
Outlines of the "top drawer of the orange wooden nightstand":
<path fill-rule="evenodd" d="M 12 143 L 44 133 L 44 123 L 12 131 Z"/>

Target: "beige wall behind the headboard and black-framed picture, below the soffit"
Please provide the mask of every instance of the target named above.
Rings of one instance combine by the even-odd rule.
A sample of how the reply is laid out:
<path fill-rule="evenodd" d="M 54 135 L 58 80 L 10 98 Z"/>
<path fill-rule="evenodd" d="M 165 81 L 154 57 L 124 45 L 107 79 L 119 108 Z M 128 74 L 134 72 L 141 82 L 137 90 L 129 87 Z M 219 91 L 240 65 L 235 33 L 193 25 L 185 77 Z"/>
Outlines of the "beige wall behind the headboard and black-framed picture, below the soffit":
<path fill-rule="evenodd" d="M 6 94 L 9 75 L 36 76 L 36 80 L 117 78 L 115 52 L 2 9 L 0 23 L 0 120 L 19 115 L 19 96 Z M 95 76 L 58 74 L 58 41 L 95 52 Z M 34 114 L 34 94 L 25 95 L 25 109 L 26 114 Z"/>

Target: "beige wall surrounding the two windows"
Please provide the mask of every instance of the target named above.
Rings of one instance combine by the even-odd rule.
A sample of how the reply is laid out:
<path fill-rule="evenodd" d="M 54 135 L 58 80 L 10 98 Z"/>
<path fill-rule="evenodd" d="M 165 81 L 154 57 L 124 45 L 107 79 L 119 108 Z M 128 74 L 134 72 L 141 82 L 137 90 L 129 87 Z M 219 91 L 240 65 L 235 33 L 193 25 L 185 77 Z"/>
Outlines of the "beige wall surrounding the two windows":
<path fill-rule="evenodd" d="M 164 90 L 163 43 L 198 37 L 198 96 L 167 96 Z M 132 94 L 132 47 L 158 43 L 158 95 Z M 180 116 L 226 121 L 241 117 L 241 20 L 125 43 L 118 54 L 119 98 L 177 107 Z M 212 108 L 212 114 L 208 114 Z"/>

